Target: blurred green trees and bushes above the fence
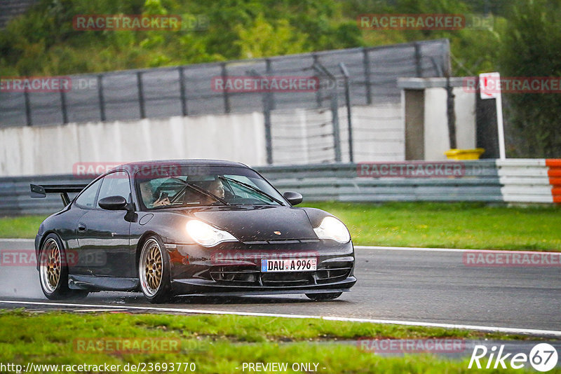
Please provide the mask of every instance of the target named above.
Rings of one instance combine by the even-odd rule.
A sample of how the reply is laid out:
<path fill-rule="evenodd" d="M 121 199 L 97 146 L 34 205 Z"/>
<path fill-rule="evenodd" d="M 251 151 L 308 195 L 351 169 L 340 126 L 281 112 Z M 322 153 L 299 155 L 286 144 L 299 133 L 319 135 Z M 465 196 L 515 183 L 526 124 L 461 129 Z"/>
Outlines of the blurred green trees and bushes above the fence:
<path fill-rule="evenodd" d="M 452 0 L 339 1 L 133 0 L 126 3 L 40 0 L 26 15 L 0 32 L 1 75 L 78 74 L 116 69 L 170 66 L 378 46 L 422 39 L 450 38 L 459 64 L 487 68 L 496 36 L 485 30 L 464 32 L 361 30 L 361 13 L 468 13 Z M 180 31 L 76 31 L 74 15 L 182 15 Z M 203 27 L 189 20 L 204 17 Z M 474 43 L 484 40 L 486 43 Z"/>

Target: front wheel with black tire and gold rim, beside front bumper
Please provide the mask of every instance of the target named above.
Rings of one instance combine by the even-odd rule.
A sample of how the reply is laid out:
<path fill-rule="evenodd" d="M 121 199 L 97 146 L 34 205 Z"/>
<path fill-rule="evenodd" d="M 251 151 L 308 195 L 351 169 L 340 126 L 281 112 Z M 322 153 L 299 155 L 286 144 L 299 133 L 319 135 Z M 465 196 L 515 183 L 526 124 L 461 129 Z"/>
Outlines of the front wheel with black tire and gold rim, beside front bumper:
<path fill-rule="evenodd" d="M 140 289 L 150 303 L 165 303 L 170 299 L 170 256 L 164 248 L 158 237 L 151 236 L 140 251 Z"/>

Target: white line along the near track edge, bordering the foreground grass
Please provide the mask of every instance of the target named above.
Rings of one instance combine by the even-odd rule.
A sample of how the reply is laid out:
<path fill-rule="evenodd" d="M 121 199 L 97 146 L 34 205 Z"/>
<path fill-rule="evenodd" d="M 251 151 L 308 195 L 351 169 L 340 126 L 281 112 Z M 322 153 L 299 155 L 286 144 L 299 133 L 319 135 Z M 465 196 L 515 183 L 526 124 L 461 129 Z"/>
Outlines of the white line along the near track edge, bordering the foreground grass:
<path fill-rule="evenodd" d="M 182 312 L 182 313 L 191 313 L 191 314 L 231 314 L 236 316 L 283 317 L 283 318 L 295 318 L 295 319 L 311 318 L 311 319 L 323 319 L 325 321 L 367 322 L 371 324 L 395 324 L 395 325 L 405 325 L 405 326 L 459 328 L 462 330 L 477 330 L 477 331 L 489 331 L 489 332 L 499 332 L 499 333 L 561 336 L 561 331 L 535 330 L 532 328 L 511 328 L 511 327 L 475 326 L 475 325 L 459 325 L 459 324 L 433 324 L 431 322 L 420 322 L 420 321 L 393 321 L 388 319 L 328 317 L 328 316 L 312 316 L 312 315 L 305 315 L 305 314 L 227 312 L 224 310 L 182 309 L 182 308 L 173 308 L 173 307 L 148 307 L 148 306 L 138 307 L 138 306 L 123 306 L 123 305 L 112 306 L 112 305 L 48 303 L 48 302 L 40 302 L 40 301 L 13 301 L 13 300 L 0 300 L 0 304 L 46 305 L 46 306 L 58 306 L 58 307 L 90 307 L 90 308 L 111 309 L 111 310 L 132 309 L 132 310 L 151 310 L 151 311 L 158 311 L 158 312 Z"/>

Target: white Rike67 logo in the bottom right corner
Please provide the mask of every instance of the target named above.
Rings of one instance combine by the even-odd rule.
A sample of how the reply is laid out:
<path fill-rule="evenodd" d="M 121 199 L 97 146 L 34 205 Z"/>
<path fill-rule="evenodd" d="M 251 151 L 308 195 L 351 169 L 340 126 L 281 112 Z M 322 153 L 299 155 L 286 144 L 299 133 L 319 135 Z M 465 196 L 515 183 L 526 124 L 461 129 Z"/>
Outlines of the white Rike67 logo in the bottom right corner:
<path fill-rule="evenodd" d="M 506 369 L 507 366 L 511 366 L 513 369 L 525 368 L 529 363 L 535 370 L 546 372 L 557 365 L 557 350 L 553 345 L 548 343 L 539 343 L 535 345 L 530 354 L 525 353 L 504 353 L 504 345 L 499 347 L 497 352 L 497 346 L 493 345 L 491 349 L 487 349 L 485 345 L 475 345 L 473 347 L 473 353 L 471 354 L 471 359 L 469 360 L 468 368 L 471 369 L 473 364 L 477 368 L 482 368 L 480 359 L 485 361 L 487 359 L 487 366 L 485 368 L 501 368 Z M 489 356 L 487 357 L 487 354 Z"/>

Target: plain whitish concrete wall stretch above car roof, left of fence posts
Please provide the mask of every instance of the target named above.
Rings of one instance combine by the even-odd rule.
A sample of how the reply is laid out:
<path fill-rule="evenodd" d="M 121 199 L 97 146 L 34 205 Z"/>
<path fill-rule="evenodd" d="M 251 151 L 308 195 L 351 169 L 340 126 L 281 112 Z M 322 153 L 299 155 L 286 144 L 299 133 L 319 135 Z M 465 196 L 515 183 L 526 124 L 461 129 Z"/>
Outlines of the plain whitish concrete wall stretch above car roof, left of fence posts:
<path fill-rule="evenodd" d="M 0 129 L 0 176 L 72 174 L 76 162 L 218 158 L 266 163 L 262 113 Z"/>

